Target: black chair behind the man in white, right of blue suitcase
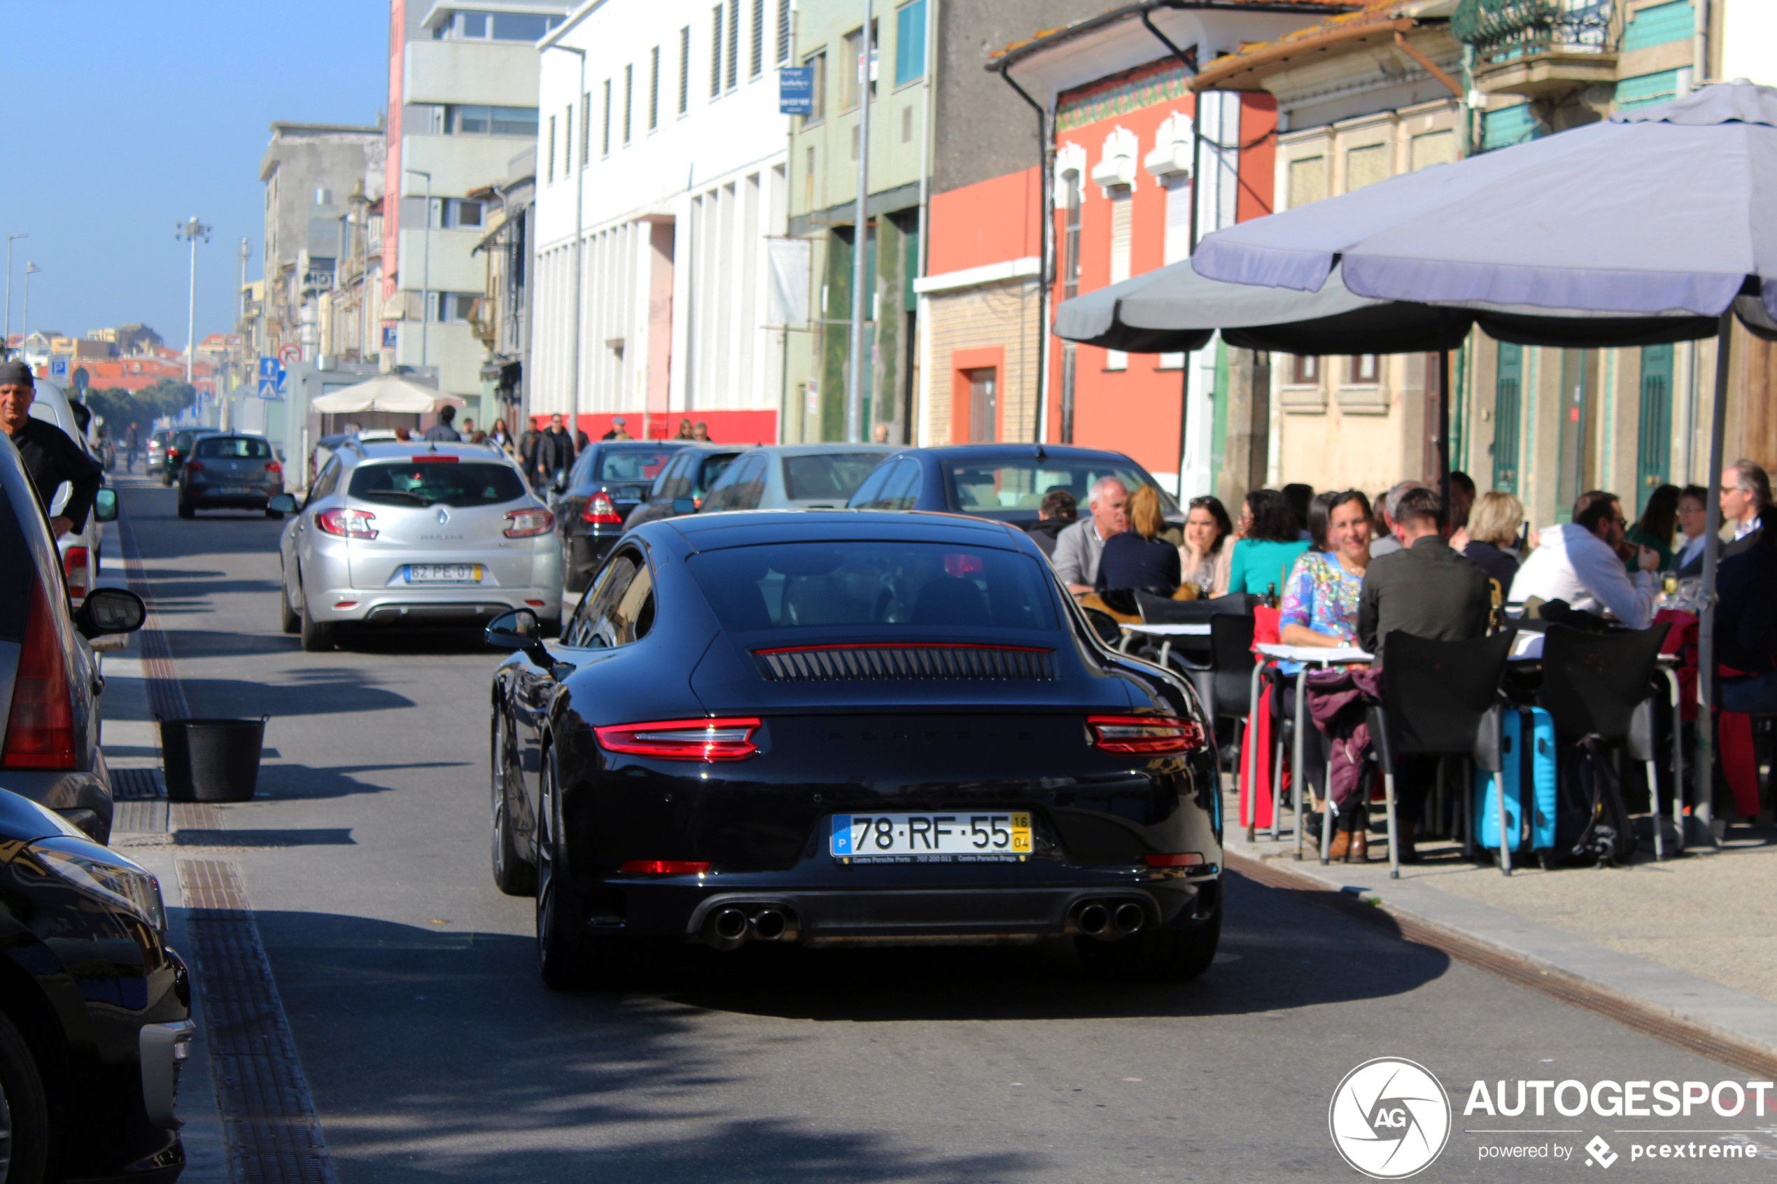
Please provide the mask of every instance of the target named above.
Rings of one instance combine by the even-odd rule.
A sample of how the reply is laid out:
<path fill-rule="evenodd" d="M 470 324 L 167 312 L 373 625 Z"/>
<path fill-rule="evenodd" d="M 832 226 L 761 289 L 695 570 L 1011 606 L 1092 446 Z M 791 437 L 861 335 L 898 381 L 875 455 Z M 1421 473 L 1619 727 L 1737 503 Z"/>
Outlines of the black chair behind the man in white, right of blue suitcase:
<path fill-rule="evenodd" d="M 1647 767 L 1654 859 L 1665 859 L 1660 770 L 1654 767 L 1654 666 L 1667 628 L 1669 623 L 1660 621 L 1651 628 L 1583 634 L 1550 625 L 1542 634 L 1542 689 L 1537 692 L 1537 706 L 1550 714 L 1557 737 L 1583 744 L 1601 760 L 1606 751 L 1621 749 Z"/>

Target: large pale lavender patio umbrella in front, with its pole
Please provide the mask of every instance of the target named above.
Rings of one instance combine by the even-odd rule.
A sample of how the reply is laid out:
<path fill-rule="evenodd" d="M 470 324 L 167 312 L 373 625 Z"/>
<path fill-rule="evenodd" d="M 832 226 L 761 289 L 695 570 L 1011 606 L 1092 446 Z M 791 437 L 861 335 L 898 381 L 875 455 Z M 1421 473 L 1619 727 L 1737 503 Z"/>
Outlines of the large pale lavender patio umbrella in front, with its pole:
<path fill-rule="evenodd" d="M 1210 279 L 1372 300 L 1718 318 L 1701 669 L 1715 669 L 1722 430 L 1733 314 L 1777 318 L 1777 89 L 1733 82 L 1425 169 L 1207 236 Z M 1709 719 L 1713 687 L 1697 680 Z M 1697 730 L 1697 769 L 1713 767 Z M 1708 818 L 1709 774 L 1695 777 Z"/>

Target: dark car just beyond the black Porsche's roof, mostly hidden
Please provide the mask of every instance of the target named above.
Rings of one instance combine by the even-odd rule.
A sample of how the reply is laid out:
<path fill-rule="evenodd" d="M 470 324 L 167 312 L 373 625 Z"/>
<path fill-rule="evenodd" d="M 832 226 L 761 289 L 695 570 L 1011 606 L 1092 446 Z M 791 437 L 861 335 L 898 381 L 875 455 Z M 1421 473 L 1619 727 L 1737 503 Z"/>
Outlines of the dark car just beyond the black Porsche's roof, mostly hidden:
<path fill-rule="evenodd" d="M 1166 520 L 1183 527 L 1178 501 L 1123 453 L 1063 444 L 947 444 L 910 447 L 883 460 L 846 502 L 853 509 L 947 509 L 977 518 L 1036 524 L 1043 495 L 1064 488 L 1086 517 L 1086 499 L 1098 478 L 1120 478 L 1132 492 L 1160 492 Z"/>

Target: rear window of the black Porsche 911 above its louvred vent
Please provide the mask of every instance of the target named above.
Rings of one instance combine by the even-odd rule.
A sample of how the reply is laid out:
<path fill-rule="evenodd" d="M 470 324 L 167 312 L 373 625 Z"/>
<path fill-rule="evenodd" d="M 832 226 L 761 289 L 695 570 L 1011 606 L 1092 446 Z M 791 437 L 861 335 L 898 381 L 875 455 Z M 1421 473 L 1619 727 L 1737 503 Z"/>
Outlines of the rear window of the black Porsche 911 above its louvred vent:
<path fill-rule="evenodd" d="M 1043 566 L 992 547 L 768 543 L 702 552 L 689 568 L 732 632 L 1057 628 Z"/>

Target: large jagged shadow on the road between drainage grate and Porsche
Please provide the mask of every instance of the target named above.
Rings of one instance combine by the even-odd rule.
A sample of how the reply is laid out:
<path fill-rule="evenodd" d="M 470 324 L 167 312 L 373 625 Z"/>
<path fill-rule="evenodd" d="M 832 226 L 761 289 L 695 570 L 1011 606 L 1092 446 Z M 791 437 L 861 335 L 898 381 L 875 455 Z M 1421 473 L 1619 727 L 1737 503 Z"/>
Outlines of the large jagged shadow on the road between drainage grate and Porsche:
<path fill-rule="evenodd" d="M 553 994 L 526 937 L 254 920 L 299 1047 L 352 1051 L 304 1056 L 345 1179 L 963 1184 L 1050 1166 L 1041 1150 L 819 1129 L 773 1097 L 755 1062 L 769 1049 L 700 1042 L 682 1005 Z"/>

